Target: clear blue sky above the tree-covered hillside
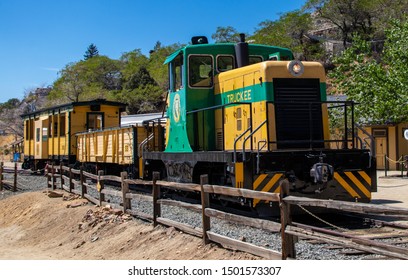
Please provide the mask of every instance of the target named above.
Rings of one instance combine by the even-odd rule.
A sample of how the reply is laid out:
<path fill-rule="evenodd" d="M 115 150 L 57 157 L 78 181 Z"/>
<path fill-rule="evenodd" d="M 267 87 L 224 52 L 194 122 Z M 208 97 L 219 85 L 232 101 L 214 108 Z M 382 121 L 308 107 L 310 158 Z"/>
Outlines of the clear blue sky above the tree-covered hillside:
<path fill-rule="evenodd" d="M 51 85 L 93 43 L 117 59 L 157 41 L 187 43 L 218 26 L 253 33 L 306 0 L 0 0 L 0 103 Z"/>

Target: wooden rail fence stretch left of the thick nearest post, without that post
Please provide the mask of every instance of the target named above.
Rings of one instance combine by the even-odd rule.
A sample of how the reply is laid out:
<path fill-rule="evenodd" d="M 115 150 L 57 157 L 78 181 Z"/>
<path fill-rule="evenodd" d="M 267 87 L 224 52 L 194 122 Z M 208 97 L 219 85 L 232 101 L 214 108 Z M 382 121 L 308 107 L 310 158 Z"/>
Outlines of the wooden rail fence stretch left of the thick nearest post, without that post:
<path fill-rule="evenodd" d="M 57 178 L 60 179 L 59 182 L 57 182 Z M 89 179 L 94 180 L 94 184 L 87 183 Z M 175 227 L 183 232 L 203 238 L 203 241 L 206 244 L 212 241 L 221 244 L 226 248 L 241 250 L 264 258 L 282 259 L 281 252 L 222 236 L 211 231 L 212 217 L 267 230 L 271 233 L 280 231 L 281 227 L 279 223 L 223 212 L 211 208 L 209 203 L 210 194 L 239 196 L 244 198 L 263 199 L 269 201 L 279 201 L 279 194 L 208 185 L 207 176 L 201 177 L 201 184 L 181 184 L 160 181 L 159 173 L 157 172 L 153 173 L 152 181 L 145 181 L 128 179 L 126 172 L 122 172 L 120 177 L 104 175 L 103 171 L 99 171 L 98 175 L 95 175 L 85 172 L 83 169 L 76 170 L 66 166 L 49 166 L 47 181 L 48 186 L 52 189 L 56 189 L 58 187 L 68 192 L 79 194 L 83 198 L 88 199 L 96 205 L 104 206 L 109 204 L 113 208 L 121 209 L 125 213 L 131 214 L 135 217 L 150 220 L 153 222 L 153 226 L 164 225 Z M 121 191 L 106 188 L 105 185 L 107 181 L 120 183 Z M 151 187 L 151 195 L 131 192 L 129 190 L 129 185 L 131 184 Z M 201 205 L 161 198 L 160 194 L 164 188 L 178 191 L 200 192 Z M 89 191 L 91 189 L 93 189 L 93 193 L 97 191 L 99 197 L 91 196 L 89 194 Z M 115 196 L 121 200 L 121 203 L 108 203 L 105 201 L 105 195 Z M 151 202 L 153 204 L 152 213 L 149 214 L 132 209 L 133 199 Z M 173 221 L 168 218 L 162 217 L 162 205 L 177 206 L 192 210 L 197 213 L 201 213 L 202 227 L 193 227 L 189 224 Z"/>

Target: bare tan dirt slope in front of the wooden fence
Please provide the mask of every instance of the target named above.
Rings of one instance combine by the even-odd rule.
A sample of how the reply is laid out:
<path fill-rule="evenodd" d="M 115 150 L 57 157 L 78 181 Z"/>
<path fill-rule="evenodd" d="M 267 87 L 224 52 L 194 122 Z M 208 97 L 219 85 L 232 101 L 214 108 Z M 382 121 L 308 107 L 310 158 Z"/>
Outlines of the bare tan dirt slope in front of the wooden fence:
<path fill-rule="evenodd" d="M 174 228 L 153 228 L 84 199 L 69 199 L 33 192 L 0 200 L 0 259 L 259 259 L 204 246 L 200 238 Z"/>

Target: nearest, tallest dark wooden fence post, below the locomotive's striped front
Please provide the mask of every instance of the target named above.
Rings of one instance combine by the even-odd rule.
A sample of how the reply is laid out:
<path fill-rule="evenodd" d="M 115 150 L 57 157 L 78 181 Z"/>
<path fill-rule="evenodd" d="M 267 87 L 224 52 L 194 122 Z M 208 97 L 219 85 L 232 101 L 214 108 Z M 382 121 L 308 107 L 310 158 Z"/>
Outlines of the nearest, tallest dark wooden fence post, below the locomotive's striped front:
<path fill-rule="evenodd" d="M 280 215 L 281 215 L 281 236 L 282 236 L 282 260 L 287 258 L 296 258 L 294 238 L 291 234 L 286 234 L 286 226 L 292 224 L 290 214 L 290 204 L 286 203 L 283 198 L 289 195 L 289 181 L 285 179 L 281 182 L 280 191 Z"/>

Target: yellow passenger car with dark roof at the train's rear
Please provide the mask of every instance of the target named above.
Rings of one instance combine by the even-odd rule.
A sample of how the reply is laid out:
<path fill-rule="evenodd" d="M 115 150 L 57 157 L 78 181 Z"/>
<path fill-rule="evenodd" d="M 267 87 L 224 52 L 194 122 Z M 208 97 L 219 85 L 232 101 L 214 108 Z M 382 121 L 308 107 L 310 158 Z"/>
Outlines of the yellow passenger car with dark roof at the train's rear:
<path fill-rule="evenodd" d="M 126 105 L 97 99 L 72 102 L 22 115 L 24 120 L 23 168 L 39 170 L 47 161 L 74 163 L 75 134 L 116 127 Z"/>

